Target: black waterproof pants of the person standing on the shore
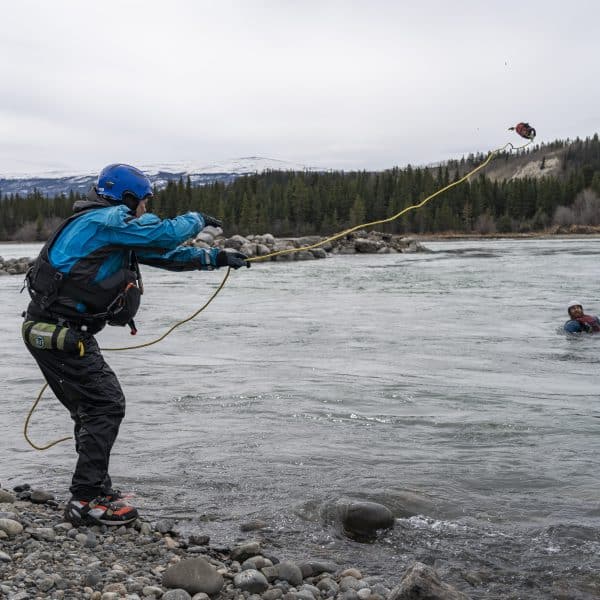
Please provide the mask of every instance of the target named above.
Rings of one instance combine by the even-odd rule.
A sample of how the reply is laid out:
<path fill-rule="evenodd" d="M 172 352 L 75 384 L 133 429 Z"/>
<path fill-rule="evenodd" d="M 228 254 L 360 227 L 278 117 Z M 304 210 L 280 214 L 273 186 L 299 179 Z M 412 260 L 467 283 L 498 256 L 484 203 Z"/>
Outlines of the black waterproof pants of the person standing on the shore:
<path fill-rule="evenodd" d="M 84 356 L 26 346 L 75 422 L 79 459 L 70 488 L 73 498 L 89 500 L 111 491 L 108 463 L 125 416 L 125 397 L 96 340 L 87 337 Z"/>

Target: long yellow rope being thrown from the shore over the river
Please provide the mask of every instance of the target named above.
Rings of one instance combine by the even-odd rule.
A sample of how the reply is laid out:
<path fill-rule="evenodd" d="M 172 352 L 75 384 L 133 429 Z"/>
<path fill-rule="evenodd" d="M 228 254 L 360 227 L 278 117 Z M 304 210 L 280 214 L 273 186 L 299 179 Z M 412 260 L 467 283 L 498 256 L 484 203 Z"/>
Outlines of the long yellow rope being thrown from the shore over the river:
<path fill-rule="evenodd" d="M 302 250 L 311 250 L 312 248 L 318 248 L 319 246 L 322 246 L 323 244 L 326 244 L 327 242 L 331 242 L 333 240 L 337 240 L 341 237 L 344 237 L 345 235 L 348 235 L 348 234 L 352 233 L 353 231 L 357 231 L 358 229 L 364 229 L 365 227 L 372 227 L 374 225 L 383 225 L 384 223 L 391 223 L 392 221 L 395 221 L 396 219 L 400 218 L 402 215 L 405 215 L 407 212 L 409 212 L 411 210 L 417 210 L 417 209 L 425 206 L 431 199 L 435 198 L 436 196 L 439 196 L 440 194 L 443 194 L 445 191 L 447 191 L 453 187 L 456 187 L 457 185 L 460 185 L 461 183 L 463 183 L 464 181 L 469 179 L 469 177 L 471 177 L 478 171 L 481 171 L 481 169 L 485 168 L 491 162 L 492 158 L 494 158 L 494 156 L 496 156 L 496 154 L 498 154 L 499 152 L 506 150 L 508 147 L 510 147 L 512 150 L 521 150 L 521 149 L 529 146 L 529 144 L 531 144 L 532 142 L 533 142 L 533 140 L 529 140 L 523 146 L 516 146 L 516 147 L 511 142 L 509 142 L 509 143 L 505 144 L 504 146 L 502 146 L 501 148 L 496 148 L 496 150 L 492 150 L 489 153 L 488 157 L 480 165 L 478 165 L 477 167 L 475 167 L 474 169 L 469 171 L 466 175 L 463 175 L 457 181 L 453 181 L 452 183 L 449 183 L 447 186 L 437 190 L 433 194 L 430 194 L 429 196 L 427 196 L 427 198 L 425 198 L 424 200 L 421 200 L 421 202 L 419 202 L 418 204 L 412 204 L 411 206 L 407 206 L 406 208 L 403 208 L 400 212 L 397 212 L 395 215 L 392 215 L 391 217 L 387 217 L 385 219 L 379 219 L 377 221 L 371 221 L 369 223 L 362 223 L 361 225 L 356 225 L 354 227 L 351 227 L 350 229 L 345 229 L 344 231 L 341 231 L 340 233 L 336 233 L 335 235 L 332 235 L 332 236 L 327 237 L 319 242 L 316 242 L 315 244 L 310 244 L 309 246 L 302 246 L 301 248 L 287 248 L 285 250 L 278 250 L 276 252 L 271 252 L 269 254 L 264 254 L 262 256 L 254 256 L 252 258 L 249 258 L 248 262 L 256 262 L 259 260 L 266 260 L 268 258 L 271 258 L 273 256 L 279 256 L 281 254 L 291 254 L 294 252 L 300 252 Z M 184 323 L 187 323 L 188 321 L 191 321 L 192 319 L 197 317 L 215 299 L 217 294 L 223 289 L 223 286 L 225 285 L 225 282 L 227 281 L 230 272 L 231 272 L 231 267 L 227 269 L 227 273 L 225 273 L 225 277 L 223 278 L 223 281 L 221 281 L 221 284 L 219 285 L 219 287 L 214 291 L 214 293 L 211 295 L 211 297 L 196 312 L 194 312 L 192 315 L 190 315 L 186 319 L 183 319 L 183 320 L 175 323 L 175 325 L 170 327 L 160 337 L 158 337 L 155 340 L 152 340 L 150 342 L 146 342 L 144 344 L 138 344 L 136 346 L 123 346 L 120 348 L 102 348 L 102 350 L 107 351 L 107 352 L 117 352 L 120 350 L 135 350 L 137 348 L 146 348 L 147 346 L 152 346 L 153 344 L 157 344 L 158 342 L 164 340 L 172 331 L 177 329 L 177 327 L 180 327 Z M 33 406 L 29 409 L 29 413 L 27 414 L 27 419 L 25 420 L 25 426 L 23 428 L 23 435 L 25 436 L 25 439 L 36 450 L 47 450 L 48 448 L 51 448 L 52 446 L 55 446 L 56 444 L 59 444 L 60 442 L 64 442 L 66 440 L 71 439 L 71 436 L 69 436 L 69 437 L 61 438 L 59 440 L 51 442 L 50 444 L 48 444 L 46 446 L 36 446 L 29 439 L 29 436 L 27 435 L 27 428 L 29 426 L 29 421 L 31 419 L 31 415 L 33 414 L 33 411 L 37 407 L 40 399 L 42 398 L 42 394 L 44 393 L 44 391 L 47 387 L 48 387 L 48 384 L 46 383 L 40 390 L 40 393 L 38 394 L 36 401 L 33 403 Z"/>

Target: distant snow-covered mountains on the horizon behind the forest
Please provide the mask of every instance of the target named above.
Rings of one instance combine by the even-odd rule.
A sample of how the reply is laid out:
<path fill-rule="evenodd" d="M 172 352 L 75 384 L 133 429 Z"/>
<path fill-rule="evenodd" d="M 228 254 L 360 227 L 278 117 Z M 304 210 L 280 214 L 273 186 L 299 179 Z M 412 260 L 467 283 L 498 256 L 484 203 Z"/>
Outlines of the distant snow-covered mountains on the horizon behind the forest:
<path fill-rule="evenodd" d="M 207 185 L 215 181 L 229 183 L 236 177 L 264 171 L 322 171 L 298 163 L 261 156 L 247 156 L 210 165 L 191 162 L 140 165 L 139 168 L 159 189 L 169 181 L 190 178 L 192 185 Z M 38 190 L 45 196 L 87 192 L 96 183 L 97 173 L 65 173 L 47 171 L 37 174 L 8 174 L 0 172 L 0 193 L 27 195 Z"/>

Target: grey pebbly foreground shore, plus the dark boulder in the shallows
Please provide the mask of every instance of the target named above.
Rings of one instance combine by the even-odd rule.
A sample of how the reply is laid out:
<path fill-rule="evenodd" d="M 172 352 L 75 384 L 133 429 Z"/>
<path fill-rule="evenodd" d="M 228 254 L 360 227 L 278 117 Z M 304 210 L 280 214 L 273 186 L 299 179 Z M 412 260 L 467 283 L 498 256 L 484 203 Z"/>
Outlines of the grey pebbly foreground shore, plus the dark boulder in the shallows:
<path fill-rule="evenodd" d="M 381 505 L 340 506 L 345 525 L 358 524 L 362 534 L 365 527 L 393 527 Z M 51 493 L 27 484 L 0 489 L 0 598 L 468 600 L 419 562 L 390 587 L 322 558 L 281 560 L 262 545 L 264 523 L 241 526 L 254 537 L 229 547 L 212 544 L 207 535 L 183 537 L 170 519 L 75 527 L 64 521 L 63 510 Z"/>

